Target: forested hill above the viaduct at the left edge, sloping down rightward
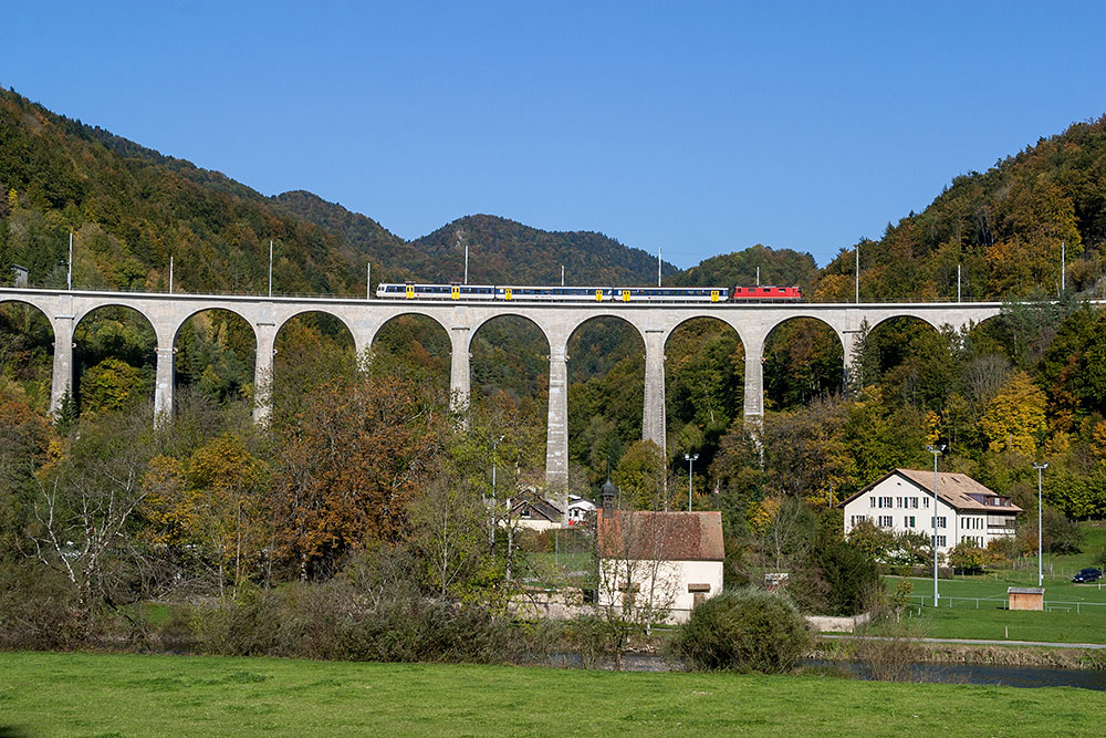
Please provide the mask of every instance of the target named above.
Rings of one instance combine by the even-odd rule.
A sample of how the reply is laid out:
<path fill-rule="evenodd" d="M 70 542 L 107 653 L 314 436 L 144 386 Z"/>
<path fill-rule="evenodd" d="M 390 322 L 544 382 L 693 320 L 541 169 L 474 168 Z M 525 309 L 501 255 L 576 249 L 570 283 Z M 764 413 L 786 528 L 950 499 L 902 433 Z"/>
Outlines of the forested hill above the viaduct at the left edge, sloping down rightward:
<path fill-rule="evenodd" d="M 0 90 L 0 267 L 35 284 L 261 291 L 270 239 L 279 291 L 363 290 L 364 257 L 228 177 L 55 115 Z"/>

